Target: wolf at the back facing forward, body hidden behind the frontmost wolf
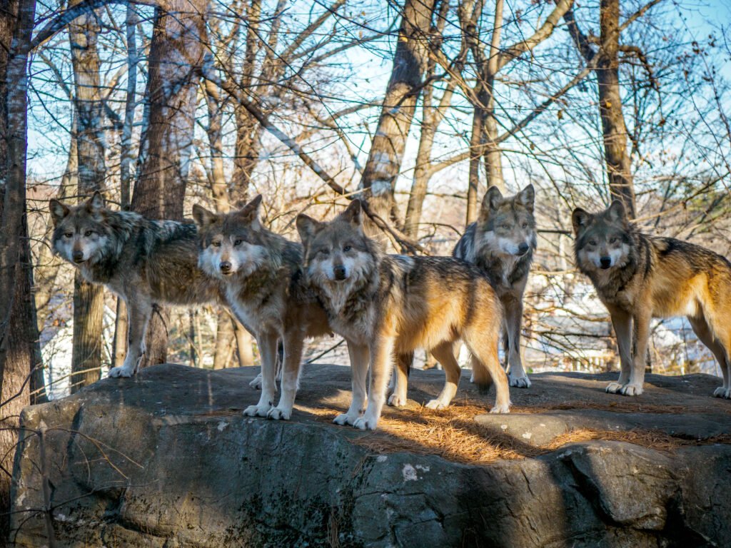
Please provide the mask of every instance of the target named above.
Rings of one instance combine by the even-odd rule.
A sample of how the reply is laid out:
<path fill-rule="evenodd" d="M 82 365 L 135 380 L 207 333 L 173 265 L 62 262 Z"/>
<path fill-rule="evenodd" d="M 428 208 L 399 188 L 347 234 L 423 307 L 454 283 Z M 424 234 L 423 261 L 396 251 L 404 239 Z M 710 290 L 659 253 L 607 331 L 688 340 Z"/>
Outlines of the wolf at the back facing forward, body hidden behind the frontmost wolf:
<path fill-rule="evenodd" d="M 505 313 L 504 343 L 511 387 L 528 388 L 531 381 L 520 359 L 523 292 L 537 248 L 533 185 L 504 198 L 491 186 L 482 199 L 480 216 L 458 240 L 452 256 L 480 267 L 495 289 Z"/>

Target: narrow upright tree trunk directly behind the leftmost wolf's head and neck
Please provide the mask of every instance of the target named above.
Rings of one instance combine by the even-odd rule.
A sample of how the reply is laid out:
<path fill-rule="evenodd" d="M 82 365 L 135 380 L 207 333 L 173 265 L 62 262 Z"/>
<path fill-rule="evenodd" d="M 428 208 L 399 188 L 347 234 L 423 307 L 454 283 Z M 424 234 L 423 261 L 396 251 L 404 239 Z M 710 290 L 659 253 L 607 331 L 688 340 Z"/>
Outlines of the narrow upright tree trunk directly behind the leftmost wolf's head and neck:
<path fill-rule="evenodd" d="M 69 24 L 75 83 L 79 197 L 89 196 L 94 191 L 102 191 L 106 171 L 99 83 L 100 61 L 96 50 L 98 34 L 99 23 L 92 12 L 80 15 Z M 103 286 L 85 281 L 76 271 L 71 360 L 72 392 L 101 378 L 103 321 Z"/>

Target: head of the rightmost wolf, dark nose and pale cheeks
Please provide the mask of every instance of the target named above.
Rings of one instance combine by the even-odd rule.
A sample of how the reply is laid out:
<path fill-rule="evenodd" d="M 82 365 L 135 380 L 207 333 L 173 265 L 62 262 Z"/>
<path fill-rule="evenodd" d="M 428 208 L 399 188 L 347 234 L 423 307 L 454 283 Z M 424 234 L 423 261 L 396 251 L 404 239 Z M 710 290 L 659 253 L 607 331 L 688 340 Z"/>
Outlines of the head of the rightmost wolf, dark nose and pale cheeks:
<path fill-rule="evenodd" d="M 621 268 L 629 262 L 632 225 L 622 202 L 614 200 L 599 213 L 576 208 L 571 220 L 576 235 L 576 262 L 583 272 Z"/>

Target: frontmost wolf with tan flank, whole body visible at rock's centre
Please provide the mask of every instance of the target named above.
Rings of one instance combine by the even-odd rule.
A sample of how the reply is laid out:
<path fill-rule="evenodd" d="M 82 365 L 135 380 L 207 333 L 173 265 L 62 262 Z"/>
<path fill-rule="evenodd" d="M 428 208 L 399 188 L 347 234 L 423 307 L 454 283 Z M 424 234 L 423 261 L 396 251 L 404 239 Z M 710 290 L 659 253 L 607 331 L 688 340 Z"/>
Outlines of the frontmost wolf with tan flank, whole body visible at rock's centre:
<path fill-rule="evenodd" d="M 334 422 L 375 430 L 394 356 L 417 348 L 430 350 L 444 367 L 447 383 L 437 399 L 448 405 L 460 376 L 454 355 L 460 339 L 472 353 L 475 381 L 484 386 L 492 378 L 496 385 L 491 412 L 507 413 L 510 389 L 497 354 L 502 311 L 490 283 L 477 267 L 452 257 L 383 254 L 363 232 L 362 211 L 354 199 L 333 221 L 297 218 L 308 283 L 330 327 L 348 342 L 352 403 Z M 396 368 L 395 374 L 396 394 L 405 400 L 405 371 Z"/>

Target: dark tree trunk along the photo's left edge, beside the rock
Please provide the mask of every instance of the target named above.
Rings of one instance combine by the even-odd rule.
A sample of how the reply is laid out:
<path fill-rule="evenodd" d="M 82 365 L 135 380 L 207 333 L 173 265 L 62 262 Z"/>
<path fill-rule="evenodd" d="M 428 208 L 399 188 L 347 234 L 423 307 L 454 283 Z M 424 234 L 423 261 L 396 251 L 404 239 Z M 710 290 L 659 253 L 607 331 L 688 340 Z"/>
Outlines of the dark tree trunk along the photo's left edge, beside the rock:
<path fill-rule="evenodd" d="M 20 410 L 31 403 L 38 330 L 26 218 L 28 56 L 34 0 L 0 12 L 0 538 L 7 536 L 10 474 Z M 37 346 L 36 346 L 37 348 Z"/>

